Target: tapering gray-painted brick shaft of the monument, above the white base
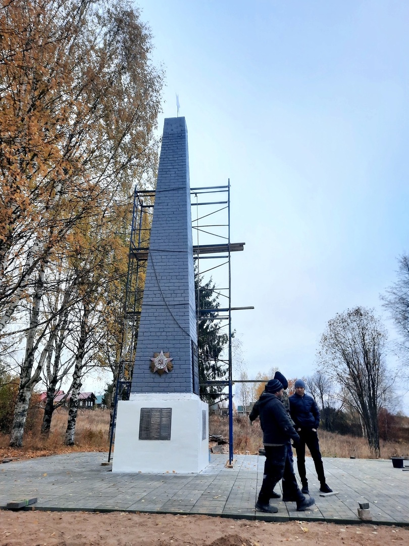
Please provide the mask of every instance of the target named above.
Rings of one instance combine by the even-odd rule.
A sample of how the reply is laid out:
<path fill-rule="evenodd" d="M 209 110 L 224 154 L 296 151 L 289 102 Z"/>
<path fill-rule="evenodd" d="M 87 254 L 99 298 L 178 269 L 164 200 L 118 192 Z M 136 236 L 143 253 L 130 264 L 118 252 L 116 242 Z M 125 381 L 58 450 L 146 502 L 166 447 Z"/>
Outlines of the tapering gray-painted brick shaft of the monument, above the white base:
<path fill-rule="evenodd" d="M 197 345 L 188 131 L 184 117 L 173 117 L 165 120 L 160 151 L 131 393 L 199 394 L 192 342 Z M 154 347 L 173 357 L 171 373 L 149 371 Z"/>

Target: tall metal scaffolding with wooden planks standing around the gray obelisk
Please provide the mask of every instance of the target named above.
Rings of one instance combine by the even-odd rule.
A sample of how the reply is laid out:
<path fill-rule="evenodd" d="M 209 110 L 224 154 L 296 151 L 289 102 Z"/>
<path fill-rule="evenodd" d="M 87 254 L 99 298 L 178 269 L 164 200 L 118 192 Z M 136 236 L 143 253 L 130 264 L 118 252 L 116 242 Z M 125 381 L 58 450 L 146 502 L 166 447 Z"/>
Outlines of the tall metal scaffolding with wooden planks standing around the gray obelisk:
<path fill-rule="evenodd" d="M 221 282 L 216 289 L 218 296 L 226 305 L 218 309 L 204 309 L 197 305 L 197 324 L 203 319 L 220 321 L 221 328 L 228 330 L 227 359 L 220 360 L 227 364 L 227 379 L 225 381 L 207 381 L 206 384 L 227 387 L 228 415 L 229 415 L 229 455 L 228 464 L 233 463 L 233 393 L 232 393 L 232 325 L 231 312 L 254 307 L 231 306 L 231 252 L 244 250 L 244 243 L 232 243 L 230 240 L 230 180 L 226 186 L 209 186 L 191 188 L 191 207 L 193 229 L 193 254 L 196 260 L 196 275 L 212 272 Z M 214 197 L 221 194 L 220 197 Z M 210 196 L 202 200 L 203 195 Z M 155 191 L 138 191 L 135 189 L 134 207 L 131 224 L 128 276 L 124 303 L 124 328 L 121 343 L 121 360 L 115 395 L 113 426 L 111 430 L 110 452 L 113 444 L 113 433 L 116 423 L 118 396 L 129 398 L 130 382 L 137 345 L 137 333 L 141 315 L 143 285 L 145 283 L 146 265 L 149 251 L 149 234 L 152 224 Z M 222 241 L 222 242 L 220 242 Z M 195 244 L 196 243 L 196 244 Z M 204 260 L 212 260 L 211 266 L 202 267 Z M 224 286 L 223 286 L 224 283 Z M 199 283 L 197 283 L 199 285 Z M 200 301 L 199 289 L 196 293 L 197 302 Z M 212 315 L 209 317 L 208 313 Z M 207 316 L 206 316 L 207 314 Z"/>

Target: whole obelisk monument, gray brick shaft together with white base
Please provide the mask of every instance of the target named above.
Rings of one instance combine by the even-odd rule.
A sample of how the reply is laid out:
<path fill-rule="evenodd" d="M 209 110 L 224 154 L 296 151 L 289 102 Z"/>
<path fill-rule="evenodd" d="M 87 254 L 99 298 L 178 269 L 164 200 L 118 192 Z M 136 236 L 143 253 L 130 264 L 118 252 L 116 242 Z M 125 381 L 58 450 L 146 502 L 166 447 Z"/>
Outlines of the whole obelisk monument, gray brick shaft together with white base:
<path fill-rule="evenodd" d="M 131 394 L 118 402 L 112 471 L 200 472 L 207 464 L 188 132 L 184 117 L 176 117 L 164 124 Z"/>

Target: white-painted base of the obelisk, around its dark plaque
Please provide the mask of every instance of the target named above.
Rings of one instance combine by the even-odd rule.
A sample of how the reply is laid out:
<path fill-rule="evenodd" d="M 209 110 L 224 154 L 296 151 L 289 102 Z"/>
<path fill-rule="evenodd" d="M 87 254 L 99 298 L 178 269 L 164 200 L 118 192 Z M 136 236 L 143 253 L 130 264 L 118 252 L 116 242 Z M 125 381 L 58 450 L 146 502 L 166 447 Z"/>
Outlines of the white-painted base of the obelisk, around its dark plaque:
<path fill-rule="evenodd" d="M 139 439 L 141 408 L 172 408 L 170 440 Z M 190 393 L 131 394 L 119 401 L 112 472 L 201 472 L 209 464 L 208 409 Z"/>

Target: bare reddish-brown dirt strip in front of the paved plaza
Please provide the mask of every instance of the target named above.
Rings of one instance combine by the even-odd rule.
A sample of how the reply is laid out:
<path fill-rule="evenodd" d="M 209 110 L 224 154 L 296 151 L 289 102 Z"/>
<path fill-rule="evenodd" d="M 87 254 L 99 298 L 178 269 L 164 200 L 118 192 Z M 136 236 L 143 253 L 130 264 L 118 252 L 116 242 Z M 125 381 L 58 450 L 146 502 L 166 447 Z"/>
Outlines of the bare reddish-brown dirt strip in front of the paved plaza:
<path fill-rule="evenodd" d="M 213 518 L 207 515 L 0 511 L 1 546 L 385 546 L 406 527 Z"/>

